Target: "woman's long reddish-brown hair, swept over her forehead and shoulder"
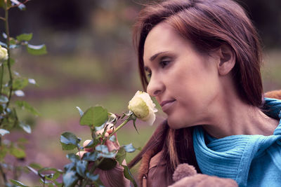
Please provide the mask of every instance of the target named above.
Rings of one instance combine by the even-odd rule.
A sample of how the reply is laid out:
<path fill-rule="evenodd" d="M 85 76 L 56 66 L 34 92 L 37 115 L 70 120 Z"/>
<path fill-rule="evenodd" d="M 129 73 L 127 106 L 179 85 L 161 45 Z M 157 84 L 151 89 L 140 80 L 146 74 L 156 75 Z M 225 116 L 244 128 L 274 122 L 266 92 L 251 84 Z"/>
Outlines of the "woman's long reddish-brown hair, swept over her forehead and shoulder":
<path fill-rule="evenodd" d="M 174 27 L 176 32 L 188 39 L 195 49 L 202 53 L 209 53 L 222 45 L 228 45 L 236 57 L 232 73 L 237 92 L 244 102 L 262 106 L 259 36 L 241 6 L 231 0 L 174 0 L 146 6 L 140 12 L 133 30 L 133 43 L 138 52 L 138 67 L 144 89 L 148 85 L 143 63 L 144 43 L 150 30 L 159 22 L 166 22 Z M 171 130 L 167 127 L 163 134 L 152 135 L 155 136 L 164 139 L 159 143 L 150 139 L 143 151 L 129 164 L 130 167 L 141 160 L 148 148 L 159 149 L 167 141 L 169 148 L 166 150 L 166 159 L 169 169 L 174 170 L 181 162 L 195 164 L 197 167 L 192 147 L 192 128 Z M 175 144 L 177 139 L 186 139 L 185 136 L 188 136 L 185 144 L 183 141 L 181 144 Z M 183 154 L 190 156 L 183 158 Z"/>

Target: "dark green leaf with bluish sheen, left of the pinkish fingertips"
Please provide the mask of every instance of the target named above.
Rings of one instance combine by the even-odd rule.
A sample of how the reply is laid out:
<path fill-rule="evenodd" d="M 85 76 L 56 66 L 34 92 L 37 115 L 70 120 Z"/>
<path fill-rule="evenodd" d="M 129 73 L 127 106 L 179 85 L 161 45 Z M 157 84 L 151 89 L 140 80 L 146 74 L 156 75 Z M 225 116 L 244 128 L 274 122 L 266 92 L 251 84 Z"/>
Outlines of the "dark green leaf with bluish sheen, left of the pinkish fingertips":
<path fill-rule="evenodd" d="M 72 150 L 79 146 L 79 139 L 71 132 L 63 132 L 60 135 L 60 144 L 62 144 L 63 150 Z"/>

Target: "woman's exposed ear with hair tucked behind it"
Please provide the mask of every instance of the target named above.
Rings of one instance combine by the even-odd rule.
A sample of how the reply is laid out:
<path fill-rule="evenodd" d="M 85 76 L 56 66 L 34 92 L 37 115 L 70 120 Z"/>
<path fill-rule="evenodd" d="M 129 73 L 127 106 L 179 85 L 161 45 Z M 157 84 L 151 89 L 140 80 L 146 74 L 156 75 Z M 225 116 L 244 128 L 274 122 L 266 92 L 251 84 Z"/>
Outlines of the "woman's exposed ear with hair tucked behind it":
<path fill-rule="evenodd" d="M 235 62 L 236 62 L 236 56 L 232 48 L 227 45 L 222 45 L 218 49 L 218 74 L 221 76 L 226 76 L 231 69 L 233 69 Z"/>

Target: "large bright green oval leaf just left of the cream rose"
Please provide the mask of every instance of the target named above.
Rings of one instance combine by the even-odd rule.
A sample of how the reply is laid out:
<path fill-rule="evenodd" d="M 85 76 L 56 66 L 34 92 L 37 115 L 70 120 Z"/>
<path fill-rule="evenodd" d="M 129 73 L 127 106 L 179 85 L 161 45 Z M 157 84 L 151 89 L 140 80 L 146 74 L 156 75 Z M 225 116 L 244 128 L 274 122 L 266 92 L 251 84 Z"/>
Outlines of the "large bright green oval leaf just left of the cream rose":
<path fill-rule="evenodd" d="M 95 106 L 88 109 L 80 118 L 81 125 L 100 126 L 107 121 L 107 110 L 102 106 Z"/>

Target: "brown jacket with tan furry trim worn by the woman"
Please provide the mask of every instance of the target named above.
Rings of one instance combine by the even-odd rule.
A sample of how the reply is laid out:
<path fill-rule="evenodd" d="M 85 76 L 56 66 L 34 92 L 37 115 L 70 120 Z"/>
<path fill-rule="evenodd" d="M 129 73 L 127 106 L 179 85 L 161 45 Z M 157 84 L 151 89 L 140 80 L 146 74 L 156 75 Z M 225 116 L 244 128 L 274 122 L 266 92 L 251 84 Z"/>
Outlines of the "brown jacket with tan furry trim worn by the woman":
<path fill-rule="evenodd" d="M 281 90 L 266 92 L 265 97 L 281 99 Z M 163 151 L 155 153 L 150 150 L 143 155 L 138 171 L 138 181 L 142 187 L 162 187 L 173 183 L 172 174 L 166 174 L 166 160 L 162 159 Z"/>

